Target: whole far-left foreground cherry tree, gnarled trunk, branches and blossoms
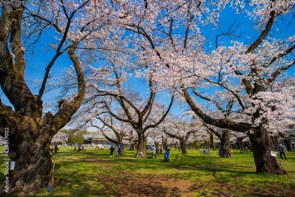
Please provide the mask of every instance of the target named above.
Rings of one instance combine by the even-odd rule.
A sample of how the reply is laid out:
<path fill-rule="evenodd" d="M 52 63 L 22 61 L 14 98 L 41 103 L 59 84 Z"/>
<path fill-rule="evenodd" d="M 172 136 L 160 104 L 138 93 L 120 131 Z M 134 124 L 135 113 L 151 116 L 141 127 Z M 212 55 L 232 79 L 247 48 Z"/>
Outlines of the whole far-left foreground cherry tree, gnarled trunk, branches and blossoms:
<path fill-rule="evenodd" d="M 79 58 L 80 46 L 93 36 L 104 37 L 107 14 L 104 3 L 85 1 L 1 1 L 0 19 L 0 84 L 13 105 L 0 102 L 0 134 L 9 131 L 10 159 L 15 168 L 9 173 L 9 189 L 1 185 L 0 195 L 31 192 L 48 185 L 52 162 L 49 145 L 80 107 L 85 95 L 85 79 Z M 94 12 L 94 10 L 96 12 Z M 100 11 L 101 10 L 101 11 Z M 50 31 L 52 30 L 52 32 Z M 43 32 L 50 32 L 45 52 L 53 51 L 39 93 L 33 95 L 24 78 L 25 52 L 33 49 Z M 33 40 L 31 42 L 31 40 Z M 43 116 L 42 96 L 50 70 L 63 53 L 70 58 L 76 87 L 72 97 L 58 101 L 57 113 Z M 26 166 L 26 167 L 23 167 Z"/>

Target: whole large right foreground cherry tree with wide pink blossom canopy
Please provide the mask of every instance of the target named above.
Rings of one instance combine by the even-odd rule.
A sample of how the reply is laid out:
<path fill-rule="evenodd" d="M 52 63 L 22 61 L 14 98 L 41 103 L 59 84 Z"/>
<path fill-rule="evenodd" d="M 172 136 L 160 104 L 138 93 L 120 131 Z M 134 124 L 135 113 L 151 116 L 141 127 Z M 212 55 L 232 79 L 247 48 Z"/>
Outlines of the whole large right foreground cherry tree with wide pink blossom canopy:
<path fill-rule="evenodd" d="M 210 36 L 201 28 L 210 26 L 218 35 L 222 10 L 230 7 L 240 16 L 248 14 L 253 24 L 248 29 L 259 35 L 212 48 Z M 178 90 L 205 123 L 248 133 L 256 172 L 283 175 L 281 162 L 270 154 L 274 149 L 268 118 L 293 116 L 293 97 L 290 91 L 275 93 L 269 87 L 295 64 L 293 8 L 292 0 L 139 1 L 119 4 L 117 16 L 122 27 L 134 35 L 135 57 L 155 71 L 154 78 L 163 89 Z M 280 20 L 284 22 L 278 24 Z M 200 94 L 209 87 L 234 97 L 238 103 L 235 113 L 242 113 L 243 118 L 215 118 L 202 111 L 194 99 L 199 96 L 192 90 Z M 276 110 L 272 110 L 274 104 Z"/>

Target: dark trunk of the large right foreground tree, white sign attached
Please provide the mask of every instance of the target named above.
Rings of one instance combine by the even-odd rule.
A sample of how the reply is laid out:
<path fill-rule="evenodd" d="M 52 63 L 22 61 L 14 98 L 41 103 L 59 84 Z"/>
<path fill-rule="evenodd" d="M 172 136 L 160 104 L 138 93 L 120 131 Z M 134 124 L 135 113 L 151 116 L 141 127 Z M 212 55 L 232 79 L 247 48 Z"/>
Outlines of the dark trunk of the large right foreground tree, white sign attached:
<path fill-rule="evenodd" d="M 254 132 L 253 132 L 254 131 Z M 271 156 L 271 151 L 275 151 L 268 131 L 262 125 L 252 129 L 252 134 L 249 132 L 248 136 L 253 148 L 254 161 L 256 166 L 256 173 L 270 175 L 287 175 L 286 170 L 278 159 L 278 157 Z"/>

